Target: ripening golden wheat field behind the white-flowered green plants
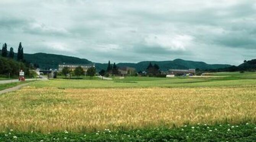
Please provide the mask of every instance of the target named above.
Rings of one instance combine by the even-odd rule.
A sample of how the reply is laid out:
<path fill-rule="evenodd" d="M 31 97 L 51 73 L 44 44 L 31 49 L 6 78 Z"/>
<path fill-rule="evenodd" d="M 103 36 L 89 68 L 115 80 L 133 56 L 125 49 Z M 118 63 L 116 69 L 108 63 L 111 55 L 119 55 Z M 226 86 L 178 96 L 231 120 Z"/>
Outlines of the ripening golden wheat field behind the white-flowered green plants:
<path fill-rule="evenodd" d="M 255 87 L 58 89 L 0 96 L 0 131 L 98 131 L 256 122 Z"/>

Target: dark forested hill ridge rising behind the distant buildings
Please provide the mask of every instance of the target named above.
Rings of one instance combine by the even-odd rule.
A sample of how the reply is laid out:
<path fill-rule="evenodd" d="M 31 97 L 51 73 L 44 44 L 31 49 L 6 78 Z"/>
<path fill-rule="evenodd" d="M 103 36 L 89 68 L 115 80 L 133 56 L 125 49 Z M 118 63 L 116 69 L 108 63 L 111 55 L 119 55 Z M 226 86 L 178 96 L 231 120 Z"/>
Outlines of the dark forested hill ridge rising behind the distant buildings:
<path fill-rule="evenodd" d="M 0 50 L 1 52 L 1 50 Z M 15 53 L 15 58 L 17 54 Z M 57 69 L 59 64 L 92 64 L 93 62 L 87 59 L 81 59 L 77 57 L 71 57 L 66 55 L 47 54 L 47 53 L 35 53 L 35 54 L 24 54 L 24 59 L 27 62 L 38 64 L 41 69 Z M 95 63 L 97 71 L 107 68 L 107 62 L 105 64 Z M 135 68 L 137 71 L 144 71 L 149 63 L 159 65 L 160 69 L 167 71 L 168 69 L 219 69 L 227 68 L 231 65 L 222 64 L 207 64 L 204 62 L 187 61 L 182 59 L 175 59 L 173 61 L 143 61 L 139 63 L 118 63 L 117 66 L 129 66 Z"/>

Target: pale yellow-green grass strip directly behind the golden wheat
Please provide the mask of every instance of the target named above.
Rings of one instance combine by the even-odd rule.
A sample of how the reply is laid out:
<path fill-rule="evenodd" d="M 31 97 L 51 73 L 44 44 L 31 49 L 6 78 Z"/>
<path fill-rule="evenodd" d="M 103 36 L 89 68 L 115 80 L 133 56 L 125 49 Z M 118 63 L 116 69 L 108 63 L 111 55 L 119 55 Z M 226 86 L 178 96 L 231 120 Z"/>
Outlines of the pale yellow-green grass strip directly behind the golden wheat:
<path fill-rule="evenodd" d="M 139 78 L 138 78 L 139 79 Z M 133 83 L 127 83 L 133 82 Z M 37 82 L 34 87 L 56 88 L 148 88 L 148 87 L 239 87 L 256 85 L 255 79 L 233 78 L 171 78 L 162 80 L 50 80 L 49 82 Z"/>

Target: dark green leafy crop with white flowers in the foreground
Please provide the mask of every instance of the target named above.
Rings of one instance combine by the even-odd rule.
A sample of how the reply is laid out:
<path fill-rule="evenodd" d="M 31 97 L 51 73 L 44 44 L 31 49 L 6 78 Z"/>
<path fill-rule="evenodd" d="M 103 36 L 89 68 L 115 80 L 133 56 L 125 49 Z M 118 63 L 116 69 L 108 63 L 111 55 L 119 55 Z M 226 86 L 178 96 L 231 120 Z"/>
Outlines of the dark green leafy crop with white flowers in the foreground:
<path fill-rule="evenodd" d="M 181 128 L 150 128 L 130 131 L 97 131 L 94 133 L 19 133 L 13 130 L 0 133 L 5 142 L 255 142 L 256 125 L 183 126 Z"/>

